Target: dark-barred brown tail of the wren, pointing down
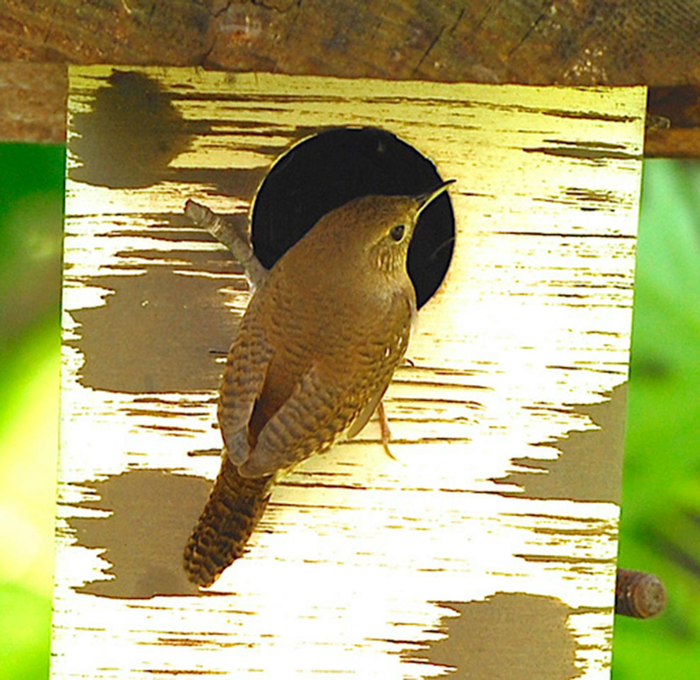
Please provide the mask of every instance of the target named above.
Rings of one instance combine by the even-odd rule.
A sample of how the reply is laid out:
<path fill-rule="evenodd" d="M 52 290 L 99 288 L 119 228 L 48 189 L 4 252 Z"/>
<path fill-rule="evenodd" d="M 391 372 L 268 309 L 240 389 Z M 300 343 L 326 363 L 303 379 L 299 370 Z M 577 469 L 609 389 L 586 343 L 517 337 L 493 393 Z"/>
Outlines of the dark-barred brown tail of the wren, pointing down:
<path fill-rule="evenodd" d="M 265 512 L 273 477 L 241 477 L 224 451 L 221 471 L 185 547 L 184 566 L 193 583 L 207 587 L 243 555 Z"/>

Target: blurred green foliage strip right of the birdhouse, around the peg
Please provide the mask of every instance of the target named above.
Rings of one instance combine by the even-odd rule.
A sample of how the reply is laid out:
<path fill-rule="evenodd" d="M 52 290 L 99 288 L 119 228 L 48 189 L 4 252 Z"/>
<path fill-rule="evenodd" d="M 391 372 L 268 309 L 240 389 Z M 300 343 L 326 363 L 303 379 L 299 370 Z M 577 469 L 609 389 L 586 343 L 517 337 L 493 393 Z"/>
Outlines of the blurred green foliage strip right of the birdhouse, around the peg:
<path fill-rule="evenodd" d="M 700 655 L 700 163 L 647 160 L 637 252 L 620 564 L 668 588 L 617 617 L 616 680 L 695 676 Z"/>

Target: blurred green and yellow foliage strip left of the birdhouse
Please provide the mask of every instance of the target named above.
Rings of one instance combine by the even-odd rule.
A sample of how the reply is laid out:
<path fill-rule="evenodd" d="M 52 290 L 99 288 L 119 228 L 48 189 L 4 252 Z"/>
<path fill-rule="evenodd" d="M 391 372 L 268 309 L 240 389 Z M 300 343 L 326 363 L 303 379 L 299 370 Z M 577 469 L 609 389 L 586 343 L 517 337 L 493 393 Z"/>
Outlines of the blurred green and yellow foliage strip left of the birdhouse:
<path fill-rule="evenodd" d="M 0 144 L 0 678 L 48 676 L 63 146 Z"/>

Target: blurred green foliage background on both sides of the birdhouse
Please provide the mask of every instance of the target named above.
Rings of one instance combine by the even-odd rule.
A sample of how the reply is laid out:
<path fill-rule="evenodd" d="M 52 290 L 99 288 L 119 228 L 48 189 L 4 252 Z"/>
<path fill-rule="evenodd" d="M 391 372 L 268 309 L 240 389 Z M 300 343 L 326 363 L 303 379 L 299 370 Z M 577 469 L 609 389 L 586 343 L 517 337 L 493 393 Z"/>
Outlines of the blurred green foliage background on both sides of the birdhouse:
<path fill-rule="evenodd" d="M 63 146 L 0 144 L 0 678 L 48 676 Z M 666 582 L 617 617 L 616 680 L 700 668 L 700 164 L 647 160 L 620 563 Z"/>

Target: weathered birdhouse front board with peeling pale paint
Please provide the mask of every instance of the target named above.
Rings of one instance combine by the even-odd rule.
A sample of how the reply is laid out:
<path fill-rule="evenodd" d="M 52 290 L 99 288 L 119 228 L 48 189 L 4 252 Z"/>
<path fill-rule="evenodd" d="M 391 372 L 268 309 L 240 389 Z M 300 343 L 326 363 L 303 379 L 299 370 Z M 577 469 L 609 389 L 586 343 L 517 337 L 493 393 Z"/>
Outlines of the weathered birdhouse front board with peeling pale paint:
<path fill-rule="evenodd" d="M 115 70 L 70 71 L 52 677 L 608 676 L 645 89 L 120 67 L 127 96 Z M 457 180 L 386 398 L 398 460 L 377 422 L 309 459 L 195 592 L 211 350 L 248 291 L 183 204 L 243 223 L 334 126 Z"/>

